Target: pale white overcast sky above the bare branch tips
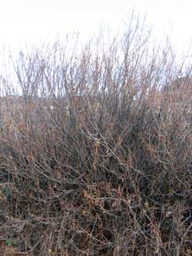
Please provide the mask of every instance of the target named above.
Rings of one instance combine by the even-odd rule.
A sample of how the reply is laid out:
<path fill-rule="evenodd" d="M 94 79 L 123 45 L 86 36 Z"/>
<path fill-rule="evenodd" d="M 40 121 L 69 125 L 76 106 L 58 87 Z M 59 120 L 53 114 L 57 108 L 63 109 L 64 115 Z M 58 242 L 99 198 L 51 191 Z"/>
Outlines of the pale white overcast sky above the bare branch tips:
<path fill-rule="evenodd" d="M 0 49 L 17 52 L 25 44 L 52 42 L 78 30 L 82 38 L 101 23 L 114 31 L 131 14 L 147 13 L 154 35 L 170 35 L 177 52 L 186 52 L 192 38 L 192 0 L 0 0 Z"/>

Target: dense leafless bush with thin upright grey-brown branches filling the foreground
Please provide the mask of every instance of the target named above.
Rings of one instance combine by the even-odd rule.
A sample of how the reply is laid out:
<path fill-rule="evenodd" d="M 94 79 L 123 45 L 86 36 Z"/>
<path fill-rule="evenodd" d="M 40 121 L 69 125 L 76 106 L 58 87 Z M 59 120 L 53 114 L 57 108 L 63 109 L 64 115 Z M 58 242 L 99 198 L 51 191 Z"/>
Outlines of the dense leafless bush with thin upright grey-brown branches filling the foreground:
<path fill-rule="evenodd" d="M 150 40 L 137 22 L 107 47 L 56 42 L 14 62 L 1 255 L 191 254 L 190 68 L 180 79 L 170 45 Z"/>

